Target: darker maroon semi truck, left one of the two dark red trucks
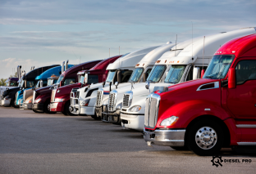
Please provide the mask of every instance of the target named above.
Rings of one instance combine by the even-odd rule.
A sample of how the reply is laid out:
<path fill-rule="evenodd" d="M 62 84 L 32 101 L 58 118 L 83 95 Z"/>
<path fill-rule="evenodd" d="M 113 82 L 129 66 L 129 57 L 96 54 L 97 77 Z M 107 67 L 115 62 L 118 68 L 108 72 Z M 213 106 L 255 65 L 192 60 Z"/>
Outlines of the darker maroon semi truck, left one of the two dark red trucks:
<path fill-rule="evenodd" d="M 82 63 L 80 65 L 72 66 L 69 69 L 66 69 L 64 72 L 62 72 L 62 74 L 58 78 L 57 86 L 55 87 L 63 87 L 70 84 L 71 86 L 75 85 L 73 83 L 78 84 L 79 79 L 77 77 L 77 72 L 82 69 L 89 70 L 93 68 L 95 65 L 97 65 L 98 62 L 100 61 L 102 60 L 89 61 L 89 62 Z M 64 65 L 62 65 L 62 67 L 63 67 L 62 69 L 64 69 Z M 66 67 L 68 67 L 67 63 L 66 63 Z M 53 87 L 41 87 L 38 90 L 33 91 L 32 109 L 34 112 L 45 112 L 47 114 L 53 113 L 50 110 L 52 90 L 53 90 Z M 63 102 L 63 103 L 65 104 L 66 102 Z M 64 105 L 62 107 L 64 107 Z"/>

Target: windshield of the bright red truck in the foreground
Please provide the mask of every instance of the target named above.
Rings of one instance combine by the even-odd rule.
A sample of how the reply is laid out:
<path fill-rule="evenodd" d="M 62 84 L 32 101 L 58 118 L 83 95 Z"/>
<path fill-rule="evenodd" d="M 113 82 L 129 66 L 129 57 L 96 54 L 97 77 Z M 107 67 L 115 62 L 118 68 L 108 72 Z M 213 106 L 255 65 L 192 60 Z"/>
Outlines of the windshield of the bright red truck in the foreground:
<path fill-rule="evenodd" d="M 208 68 L 206 69 L 203 78 L 221 79 L 225 78 L 234 56 L 230 55 L 217 55 L 213 56 Z"/>

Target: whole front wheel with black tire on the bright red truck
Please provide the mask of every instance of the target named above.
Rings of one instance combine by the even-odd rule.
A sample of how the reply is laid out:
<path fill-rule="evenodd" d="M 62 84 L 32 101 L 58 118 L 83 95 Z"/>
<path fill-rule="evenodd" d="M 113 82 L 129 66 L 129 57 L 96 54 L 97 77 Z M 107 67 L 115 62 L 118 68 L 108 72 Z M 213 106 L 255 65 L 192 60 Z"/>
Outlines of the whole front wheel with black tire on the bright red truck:
<path fill-rule="evenodd" d="M 222 149 L 222 127 L 214 120 L 200 120 L 188 130 L 187 145 L 200 156 L 213 156 Z"/>

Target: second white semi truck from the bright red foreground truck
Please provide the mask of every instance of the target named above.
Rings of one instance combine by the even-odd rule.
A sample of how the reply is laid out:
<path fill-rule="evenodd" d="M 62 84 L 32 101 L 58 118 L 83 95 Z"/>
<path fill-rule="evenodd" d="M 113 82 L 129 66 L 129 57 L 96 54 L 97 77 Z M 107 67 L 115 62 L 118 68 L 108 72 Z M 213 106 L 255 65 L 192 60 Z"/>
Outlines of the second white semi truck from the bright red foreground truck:
<path fill-rule="evenodd" d="M 194 41 L 198 39 L 199 38 L 194 38 Z M 167 69 L 167 65 L 170 64 L 170 58 L 178 55 L 185 47 L 189 46 L 190 44 L 191 44 L 191 40 L 181 42 L 166 51 L 162 50 L 161 52 L 161 50 L 158 49 L 160 54 L 158 54 L 158 56 L 155 57 L 157 59 L 154 62 L 155 64 L 152 65 L 153 69 L 149 74 L 149 77 L 147 78 L 147 80 L 150 79 L 151 83 L 161 82 L 161 80 L 166 77 L 166 74 L 164 72 L 167 72 L 166 69 Z M 166 84 L 166 86 L 167 85 L 168 84 Z M 130 89 L 131 91 L 129 91 Z M 126 91 L 129 91 L 128 93 L 130 94 L 130 96 L 132 96 L 132 91 L 136 91 L 138 89 L 143 89 L 144 91 L 146 91 L 145 83 L 140 83 L 140 84 L 130 83 L 129 85 L 126 85 L 126 87 L 118 87 L 116 90 L 113 90 L 110 92 L 109 97 L 106 96 L 105 98 L 103 98 L 103 102 L 97 101 L 96 104 L 102 103 L 101 112 L 102 112 L 103 122 L 120 124 L 121 123 L 120 114 L 121 114 L 122 105 L 127 105 L 127 103 L 130 103 L 132 101 L 128 99 L 126 100 L 127 103 L 126 102 L 123 103 L 124 94 L 126 93 Z M 100 90 L 98 92 L 100 92 Z M 146 91 L 146 93 L 147 94 L 145 94 L 145 97 L 149 95 L 149 91 Z M 97 115 L 99 114 L 100 114 L 100 111 L 97 110 Z"/>

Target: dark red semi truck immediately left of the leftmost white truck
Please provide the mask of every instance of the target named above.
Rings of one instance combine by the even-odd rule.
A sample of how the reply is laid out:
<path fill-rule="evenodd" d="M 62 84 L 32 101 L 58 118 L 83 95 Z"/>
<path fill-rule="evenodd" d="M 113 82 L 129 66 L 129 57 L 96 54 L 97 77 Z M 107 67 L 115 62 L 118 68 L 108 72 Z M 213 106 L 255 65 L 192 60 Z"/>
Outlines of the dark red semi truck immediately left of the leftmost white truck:
<path fill-rule="evenodd" d="M 121 56 L 113 56 L 113 57 L 107 58 L 99 62 L 92 69 L 89 69 L 86 71 L 80 71 L 78 73 L 78 76 L 83 77 L 83 78 L 80 78 L 80 83 L 70 84 L 70 85 L 66 85 L 65 87 L 57 87 L 53 89 L 52 97 L 51 97 L 51 105 L 50 105 L 51 111 L 62 112 L 62 114 L 65 114 L 65 115 L 74 115 L 71 113 L 73 109 L 71 107 L 71 100 L 70 100 L 72 89 L 74 88 L 74 90 L 75 89 L 77 90 L 81 87 L 81 85 L 87 86 L 92 83 L 104 82 L 107 78 L 107 73 L 108 73 L 107 65 L 113 63 L 119 57 Z M 88 78 L 86 79 L 86 83 L 85 83 L 85 77 Z"/>

